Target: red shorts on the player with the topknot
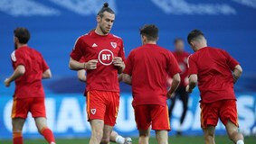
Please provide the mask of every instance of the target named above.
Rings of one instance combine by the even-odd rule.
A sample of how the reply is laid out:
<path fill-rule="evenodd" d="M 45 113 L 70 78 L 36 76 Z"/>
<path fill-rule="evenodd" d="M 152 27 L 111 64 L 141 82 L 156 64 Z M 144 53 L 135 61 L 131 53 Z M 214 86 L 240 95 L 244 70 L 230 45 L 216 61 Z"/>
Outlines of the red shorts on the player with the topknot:
<path fill-rule="evenodd" d="M 119 112 L 118 92 L 88 91 L 86 101 L 88 121 L 99 119 L 109 126 L 116 124 Z"/>

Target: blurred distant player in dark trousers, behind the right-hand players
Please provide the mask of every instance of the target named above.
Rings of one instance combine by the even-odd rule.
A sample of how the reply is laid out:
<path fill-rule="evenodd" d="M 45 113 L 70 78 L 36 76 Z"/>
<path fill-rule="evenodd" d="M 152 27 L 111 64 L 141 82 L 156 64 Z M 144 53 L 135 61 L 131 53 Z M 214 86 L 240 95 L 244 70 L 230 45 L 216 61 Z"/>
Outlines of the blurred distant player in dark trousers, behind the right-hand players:
<path fill-rule="evenodd" d="M 183 103 L 183 112 L 180 118 L 180 125 L 176 133 L 177 135 L 181 135 L 182 134 L 181 126 L 185 120 L 185 114 L 187 112 L 187 103 L 188 103 L 188 96 L 189 96 L 188 93 L 185 91 L 185 86 L 187 85 L 187 81 L 188 81 L 187 58 L 189 56 L 189 53 L 185 52 L 184 50 L 184 40 L 180 38 L 175 39 L 175 51 L 173 52 L 173 54 L 182 71 L 180 73 L 181 83 L 176 89 L 175 95 L 170 98 L 171 105 L 169 107 L 169 116 L 172 117 L 172 112 L 175 107 L 176 98 L 179 98 Z"/>

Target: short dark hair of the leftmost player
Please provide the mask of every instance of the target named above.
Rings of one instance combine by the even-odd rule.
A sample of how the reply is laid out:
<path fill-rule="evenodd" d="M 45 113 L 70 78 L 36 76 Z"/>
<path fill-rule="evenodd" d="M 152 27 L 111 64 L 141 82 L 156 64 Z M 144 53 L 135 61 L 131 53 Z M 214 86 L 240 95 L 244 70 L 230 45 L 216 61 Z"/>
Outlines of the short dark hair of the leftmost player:
<path fill-rule="evenodd" d="M 26 44 L 30 39 L 30 32 L 26 28 L 19 27 L 14 30 L 14 37 L 16 37 L 20 43 Z"/>

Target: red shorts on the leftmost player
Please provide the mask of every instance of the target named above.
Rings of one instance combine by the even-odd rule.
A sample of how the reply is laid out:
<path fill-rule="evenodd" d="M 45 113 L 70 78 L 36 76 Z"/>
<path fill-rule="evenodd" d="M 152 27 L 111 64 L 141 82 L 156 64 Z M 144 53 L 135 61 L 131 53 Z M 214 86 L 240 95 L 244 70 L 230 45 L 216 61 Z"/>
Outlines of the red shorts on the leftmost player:
<path fill-rule="evenodd" d="M 44 97 L 17 98 L 14 97 L 12 118 L 27 118 L 31 112 L 33 118 L 46 117 Z"/>

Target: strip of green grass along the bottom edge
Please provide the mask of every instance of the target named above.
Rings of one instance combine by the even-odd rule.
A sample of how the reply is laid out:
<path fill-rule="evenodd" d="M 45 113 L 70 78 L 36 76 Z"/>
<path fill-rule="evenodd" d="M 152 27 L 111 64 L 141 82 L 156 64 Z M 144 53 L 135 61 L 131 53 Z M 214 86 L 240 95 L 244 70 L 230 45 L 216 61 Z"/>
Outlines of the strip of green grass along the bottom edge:
<path fill-rule="evenodd" d="M 137 144 L 137 138 L 133 138 L 133 143 Z M 217 144 L 232 144 L 232 141 L 228 139 L 226 136 L 216 136 L 215 142 Z M 12 144 L 11 140 L 0 140 L 1 144 Z M 24 139 L 24 144 L 47 144 L 47 142 L 43 139 Z M 57 144 L 85 144 L 89 143 L 89 139 L 57 139 Z M 150 144 L 155 144 L 156 139 L 151 138 L 149 140 Z M 169 137 L 169 143 L 171 144 L 204 144 L 204 137 L 203 136 L 191 136 L 191 137 Z M 255 137 L 247 137 L 245 138 L 245 144 L 256 144 Z"/>

